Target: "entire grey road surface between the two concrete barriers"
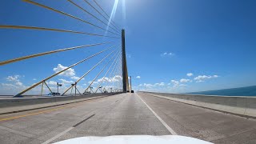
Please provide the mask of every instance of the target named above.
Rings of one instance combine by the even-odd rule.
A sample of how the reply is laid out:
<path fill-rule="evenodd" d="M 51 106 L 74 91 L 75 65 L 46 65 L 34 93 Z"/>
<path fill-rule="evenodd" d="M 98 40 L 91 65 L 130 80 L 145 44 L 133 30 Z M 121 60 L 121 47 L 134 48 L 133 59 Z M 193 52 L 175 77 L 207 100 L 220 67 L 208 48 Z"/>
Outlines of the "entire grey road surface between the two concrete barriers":
<path fill-rule="evenodd" d="M 254 119 L 138 95 L 118 94 L 0 115 L 0 143 L 51 143 L 83 136 L 134 134 L 179 134 L 214 143 L 256 143 Z"/>

